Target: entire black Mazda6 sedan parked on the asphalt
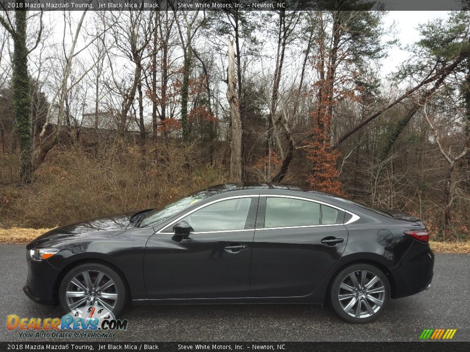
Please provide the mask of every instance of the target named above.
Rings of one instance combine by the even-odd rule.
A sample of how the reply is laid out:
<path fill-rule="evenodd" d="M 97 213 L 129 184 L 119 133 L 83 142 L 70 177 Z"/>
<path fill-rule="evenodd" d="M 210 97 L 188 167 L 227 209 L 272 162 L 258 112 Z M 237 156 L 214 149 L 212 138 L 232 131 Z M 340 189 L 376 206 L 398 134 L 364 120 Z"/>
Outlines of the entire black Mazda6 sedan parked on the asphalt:
<path fill-rule="evenodd" d="M 75 316 L 133 304 L 331 302 L 354 323 L 426 289 L 423 222 L 283 184 L 223 184 L 53 229 L 27 245 L 24 292 Z"/>

